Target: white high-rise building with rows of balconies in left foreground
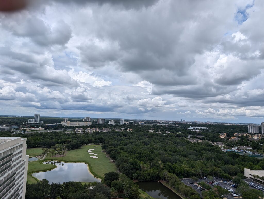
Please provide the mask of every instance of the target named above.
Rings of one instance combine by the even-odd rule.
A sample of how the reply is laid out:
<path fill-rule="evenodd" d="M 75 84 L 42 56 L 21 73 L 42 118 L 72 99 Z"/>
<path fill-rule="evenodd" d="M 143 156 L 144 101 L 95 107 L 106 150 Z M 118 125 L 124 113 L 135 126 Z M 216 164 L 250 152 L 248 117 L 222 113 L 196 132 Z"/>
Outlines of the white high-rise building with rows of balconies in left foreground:
<path fill-rule="evenodd" d="M 26 140 L 0 137 L 0 198 L 25 198 L 27 181 Z"/>

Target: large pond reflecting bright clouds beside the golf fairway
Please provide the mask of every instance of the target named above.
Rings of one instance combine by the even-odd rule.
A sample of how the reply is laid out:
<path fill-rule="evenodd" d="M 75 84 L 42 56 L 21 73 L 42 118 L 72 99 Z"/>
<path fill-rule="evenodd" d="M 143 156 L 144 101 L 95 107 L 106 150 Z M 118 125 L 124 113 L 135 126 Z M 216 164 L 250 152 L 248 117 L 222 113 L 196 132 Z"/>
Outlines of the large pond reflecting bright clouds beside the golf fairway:
<path fill-rule="evenodd" d="M 52 161 L 57 167 L 46 172 L 33 173 L 32 175 L 39 180 L 47 179 L 49 183 L 75 182 L 101 182 L 100 179 L 93 177 L 88 171 L 87 164 L 84 163 L 65 163 Z M 51 163 L 51 161 L 48 161 Z M 47 164 L 47 162 L 43 162 Z"/>

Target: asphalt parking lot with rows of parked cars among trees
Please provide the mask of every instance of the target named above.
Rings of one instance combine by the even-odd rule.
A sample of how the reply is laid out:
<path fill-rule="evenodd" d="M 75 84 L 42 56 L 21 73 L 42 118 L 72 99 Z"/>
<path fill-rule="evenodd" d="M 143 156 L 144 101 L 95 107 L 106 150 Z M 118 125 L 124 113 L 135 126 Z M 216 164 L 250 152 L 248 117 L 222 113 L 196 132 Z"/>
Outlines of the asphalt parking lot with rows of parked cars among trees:
<path fill-rule="evenodd" d="M 188 182 L 193 182 L 193 180 L 192 180 L 191 178 L 182 178 L 181 181 L 182 181 L 184 184 L 186 184 L 186 185 L 192 187 L 195 191 L 197 191 L 197 193 L 199 193 L 199 194 L 201 195 L 202 189 L 197 189 L 197 188 L 196 188 L 197 186 L 193 186 L 193 184 L 188 184 Z M 210 180 L 208 180 L 208 179 L 204 179 L 204 178 L 203 178 L 203 179 L 199 179 L 199 182 L 208 182 L 208 181 L 210 181 Z M 213 181 L 220 183 L 219 185 L 223 186 L 223 188 L 232 189 L 234 192 L 236 192 L 236 188 L 230 186 L 230 184 L 227 184 L 227 183 L 224 183 L 224 182 L 223 182 L 224 179 L 220 179 L 220 178 L 218 178 L 218 179 L 214 179 Z M 228 181 L 227 181 L 227 182 L 228 182 Z M 249 179 L 246 179 L 246 182 L 250 183 L 250 182 L 253 182 L 253 181 L 252 181 L 252 180 L 249 180 Z M 262 187 L 264 187 L 263 184 L 260 184 L 260 183 L 257 183 L 257 182 L 253 182 L 253 183 L 255 183 L 256 186 L 262 186 Z M 195 183 L 195 184 L 197 184 L 197 183 Z M 210 185 L 210 186 L 213 187 L 212 184 L 208 184 L 208 185 Z M 256 189 L 256 188 L 251 187 L 251 186 L 250 186 L 250 188 L 252 188 L 252 189 Z M 232 194 L 231 194 L 231 195 L 228 194 L 228 195 L 227 195 L 227 198 L 238 198 L 238 197 L 233 197 Z"/>

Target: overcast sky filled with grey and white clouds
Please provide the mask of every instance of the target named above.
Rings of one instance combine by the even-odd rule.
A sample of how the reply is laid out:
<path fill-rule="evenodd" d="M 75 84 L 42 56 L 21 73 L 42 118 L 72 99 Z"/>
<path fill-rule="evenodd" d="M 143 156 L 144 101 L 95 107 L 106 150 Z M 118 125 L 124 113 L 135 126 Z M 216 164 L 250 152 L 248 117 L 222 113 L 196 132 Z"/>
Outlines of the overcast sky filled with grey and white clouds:
<path fill-rule="evenodd" d="M 0 114 L 264 121 L 264 1 L 33 1 L 0 13 Z"/>

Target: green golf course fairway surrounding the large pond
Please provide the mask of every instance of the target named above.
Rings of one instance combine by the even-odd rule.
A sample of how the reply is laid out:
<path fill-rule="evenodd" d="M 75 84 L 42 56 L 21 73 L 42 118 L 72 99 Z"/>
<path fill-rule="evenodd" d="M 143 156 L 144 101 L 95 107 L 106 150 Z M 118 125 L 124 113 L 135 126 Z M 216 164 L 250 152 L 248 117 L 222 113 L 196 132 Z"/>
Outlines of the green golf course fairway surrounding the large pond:
<path fill-rule="evenodd" d="M 98 147 L 94 147 L 98 146 Z M 87 152 L 89 149 L 92 150 L 93 153 L 98 155 L 91 155 Z M 41 150 L 41 149 L 40 149 Z M 51 168 L 55 168 L 54 165 L 42 164 L 42 161 L 46 160 L 61 160 L 65 162 L 85 162 L 89 164 L 89 168 L 92 168 L 92 173 L 95 173 L 98 177 L 104 177 L 105 173 L 110 171 L 116 171 L 116 166 L 112 163 L 109 158 L 106 157 L 105 152 L 101 152 L 101 145 L 83 145 L 79 149 L 67 151 L 64 157 L 50 157 L 50 154 L 46 156 L 44 160 L 37 160 L 29 162 L 28 166 L 28 174 L 40 170 L 49 170 Z M 90 156 L 97 156 L 98 158 L 91 158 Z M 41 163 L 41 164 L 40 164 Z M 91 169 L 90 169 L 91 170 Z M 34 183 L 36 181 L 32 176 L 28 175 L 27 181 L 29 183 Z"/>

